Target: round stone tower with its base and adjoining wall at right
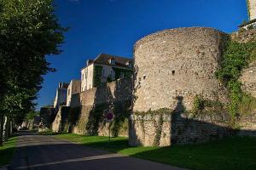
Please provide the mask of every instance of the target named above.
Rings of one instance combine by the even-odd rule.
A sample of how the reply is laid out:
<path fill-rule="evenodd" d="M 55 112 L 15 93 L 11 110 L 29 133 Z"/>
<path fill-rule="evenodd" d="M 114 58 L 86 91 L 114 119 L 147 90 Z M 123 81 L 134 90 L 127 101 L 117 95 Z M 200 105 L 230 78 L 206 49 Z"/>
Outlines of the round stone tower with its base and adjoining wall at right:
<path fill-rule="evenodd" d="M 256 31 L 231 37 L 254 41 Z M 159 31 L 139 40 L 134 47 L 134 105 L 130 120 L 131 145 L 171 145 L 206 142 L 227 135 L 255 135 L 256 112 L 234 122 L 224 110 L 191 114 L 195 95 L 229 102 L 227 89 L 214 73 L 220 66 L 228 36 L 211 28 L 178 28 Z M 242 88 L 255 96 L 255 64 L 242 72 Z M 255 77 L 254 77 L 255 76 Z M 168 114 L 153 114 L 163 108 Z M 189 114 L 190 112 L 190 114 Z"/>

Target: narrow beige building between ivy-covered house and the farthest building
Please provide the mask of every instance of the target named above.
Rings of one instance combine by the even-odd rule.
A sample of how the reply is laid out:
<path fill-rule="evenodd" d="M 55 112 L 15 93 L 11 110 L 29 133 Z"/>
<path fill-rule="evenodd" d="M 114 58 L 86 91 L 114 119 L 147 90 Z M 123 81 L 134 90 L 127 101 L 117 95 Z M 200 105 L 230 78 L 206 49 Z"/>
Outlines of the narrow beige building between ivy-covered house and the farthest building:
<path fill-rule="evenodd" d="M 71 98 L 73 94 L 80 93 L 81 90 L 81 81 L 80 80 L 71 80 L 67 87 L 67 106 L 70 105 Z"/>

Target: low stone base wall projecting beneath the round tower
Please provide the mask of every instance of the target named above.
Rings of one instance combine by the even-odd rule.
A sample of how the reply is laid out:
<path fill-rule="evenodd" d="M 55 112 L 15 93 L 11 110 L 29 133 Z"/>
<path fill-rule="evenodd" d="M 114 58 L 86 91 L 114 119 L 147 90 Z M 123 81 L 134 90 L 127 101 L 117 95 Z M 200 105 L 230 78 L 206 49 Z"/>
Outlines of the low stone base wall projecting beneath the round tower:
<path fill-rule="evenodd" d="M 159 121 L 160 117 L 163 118 L 162 122 Z M 129 144 L 166 146 L 203 143 L 235 134 L 256 136 L 256 113 L 242 116 L 236 123 L 237 129 L 230 127 L 230 116 L 227 113 L 196 116 L 188 113 L 133 115 Z"/>

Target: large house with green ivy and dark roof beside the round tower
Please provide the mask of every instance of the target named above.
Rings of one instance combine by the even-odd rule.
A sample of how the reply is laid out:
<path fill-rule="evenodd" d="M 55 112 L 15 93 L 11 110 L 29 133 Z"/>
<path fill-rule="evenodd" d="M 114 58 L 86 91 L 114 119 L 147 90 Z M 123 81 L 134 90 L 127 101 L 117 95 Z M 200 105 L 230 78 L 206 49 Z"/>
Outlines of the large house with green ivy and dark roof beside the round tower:
<path fill-rule="evenodd" d="M 81 70 L 81 91 L 97 87 L 102 82 L 131 77 L 132 65 L 132 59 L 110 54 L 99 54 L 96 59 L 88 59 Z"/>

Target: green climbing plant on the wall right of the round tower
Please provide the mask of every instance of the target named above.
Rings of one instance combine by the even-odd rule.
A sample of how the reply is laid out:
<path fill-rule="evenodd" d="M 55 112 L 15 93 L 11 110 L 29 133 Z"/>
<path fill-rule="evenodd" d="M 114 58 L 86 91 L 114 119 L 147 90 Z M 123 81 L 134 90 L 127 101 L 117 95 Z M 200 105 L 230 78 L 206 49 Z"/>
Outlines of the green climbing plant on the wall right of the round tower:
<path fill-rule="evenodd" d="M 241 90 L 241 82 L 238 80 L 241 77 L 241 71 L 255 57 L 256 42 L 239 43 L 229 40 L 226 43 L 224 58 L 221 67 L 216 72 L 216 77 L 224 82 L 230 91 L 229 110 L 232 117 L 240 114 L 238 111 L 245 95 Z"/>

